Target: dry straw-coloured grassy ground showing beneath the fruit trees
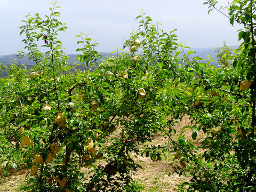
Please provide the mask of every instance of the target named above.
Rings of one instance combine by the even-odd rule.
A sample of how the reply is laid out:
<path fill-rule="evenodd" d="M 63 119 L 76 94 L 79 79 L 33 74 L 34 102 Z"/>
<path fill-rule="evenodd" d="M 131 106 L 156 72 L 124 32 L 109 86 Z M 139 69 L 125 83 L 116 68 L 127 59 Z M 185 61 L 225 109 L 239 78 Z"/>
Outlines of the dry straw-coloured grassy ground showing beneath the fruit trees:
<path fill-rule="evenodd" d="M 179 122 L 174 129 L 179 132 L 185 125 L 191 125 L 188 116 L 184 116 L 182 121 Z M 186 130 L 185 135 L 188 139 L 190 139 L 191 131 Z M 160 137 L 159 135 L 156 135 L 152 141 L 153 144 L 165 142 L 167 142 L 167 139 Z M 169 161 L 172 159 L 173 156 L 171 156 L 169 159 L 162 158 L 162 161 L 156 162 L 153 162 L 149 157 L 139 157 L 138 159 L 135 159 L 135 161 L 140 162 L 142 169 L 134 173 L 133 179 L 136 181 L 137 185 L 140 185 L 145 189 L 143 191 L 177 191 L 176 185 L 185 180 L 189 180 L 189 178 L 179 177 L 177 173 L 173 173 L 172 166 L 169 163 Z M 15 169 L 10 169 L 6 177 L 0 177 L 0 191 L 19 191 L 19 187 L 25 183 L 25 176 L 28 172 L 29 170 L 23 170 L 22 167 L 20 167 L 17 171 L 15 171 Z M 169 177 L 167 173 L 172 174 Z"/>

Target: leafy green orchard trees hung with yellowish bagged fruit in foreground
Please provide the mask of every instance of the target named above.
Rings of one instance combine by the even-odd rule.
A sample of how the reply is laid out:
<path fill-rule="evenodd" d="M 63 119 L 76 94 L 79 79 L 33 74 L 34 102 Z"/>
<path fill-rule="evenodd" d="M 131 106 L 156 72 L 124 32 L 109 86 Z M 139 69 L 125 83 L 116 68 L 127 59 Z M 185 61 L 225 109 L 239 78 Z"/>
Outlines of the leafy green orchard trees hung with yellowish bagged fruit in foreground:
<path fill-rule="evenodd" d="M 180 191 L 255 191 L 255 3 L 229 4 L 223 17 L 244 26 L 242 43 L 235 54 L 225 42 L 217 49 L 219 68 L 189 57 L 194 51 L 185 53 L 175 30 L 163 31 L 141 11 L 123 45 L 129 53 L 103 59 L 97 43 L 79 34 L 77 58 L 89 70 L 71 73 L 58 39 L 67 29 L 59 7 L 45 18 L 27 15 L 20 34 L 36 65 L 13 63 L 0 79 L 1 163 L 31 169 L 28 191 L 140 191 L 133 157 L 171 155 L 175 172 L 191 177 Z M 205 4 L 217 9 L 216 1 Z M 177 133 L 184 115 L 191 125 Z M 156 134 L 169 142 L 153 145 Z"/>

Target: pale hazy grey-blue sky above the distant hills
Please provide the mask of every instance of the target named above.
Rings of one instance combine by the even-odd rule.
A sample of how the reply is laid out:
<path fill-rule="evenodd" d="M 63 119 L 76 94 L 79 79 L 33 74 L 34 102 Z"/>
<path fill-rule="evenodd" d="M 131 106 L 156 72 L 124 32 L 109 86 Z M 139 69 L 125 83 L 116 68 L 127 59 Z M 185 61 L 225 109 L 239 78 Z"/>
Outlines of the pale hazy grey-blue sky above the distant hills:
<path fill-rule="evenodd" d="M 42 18 L 50 14 L 52 0 L 0 0 L 0 55 L 17 53 L 23 48 L 19 35 L 25 15 L 39 13 Z M 98 43 L 99 52 L 111 52 L 122 49 L 123 39 L 137 30 L 139 20 L 135 18 L 141 10 L 153 19 L 162 23 L 164 31 L 177 29 L 178 41 L 190 47 L 220 46 L 226 39 L 228 45 L 239 45 L 237 30 L 242 27 L 229 24 L 227 18 L 217 11 L 210 14 L 204 0 L 59 0 L 61 22 L 66 22 L 68 29 L 60 33 L 60 40 L 67 54 L 76 53 L 78 48 L 76 35 L 80 31 L 90 34 L 89 37 Z M 228 1 L 219 0 L 219 5 Z M 228 10 L 224 10 L 228 12 Z"/>

